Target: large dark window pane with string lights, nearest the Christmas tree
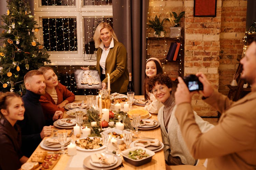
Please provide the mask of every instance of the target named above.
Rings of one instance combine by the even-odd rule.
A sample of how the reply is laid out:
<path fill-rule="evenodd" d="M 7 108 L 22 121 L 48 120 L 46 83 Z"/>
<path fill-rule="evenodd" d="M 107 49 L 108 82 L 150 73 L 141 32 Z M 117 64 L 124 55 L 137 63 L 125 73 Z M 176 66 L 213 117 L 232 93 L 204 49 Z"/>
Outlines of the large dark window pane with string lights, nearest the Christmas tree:
<path fill-rule="evenodd" d="M 43 39 L 47 51 L 76 51 L 76 18 L 43 18 Z"/>

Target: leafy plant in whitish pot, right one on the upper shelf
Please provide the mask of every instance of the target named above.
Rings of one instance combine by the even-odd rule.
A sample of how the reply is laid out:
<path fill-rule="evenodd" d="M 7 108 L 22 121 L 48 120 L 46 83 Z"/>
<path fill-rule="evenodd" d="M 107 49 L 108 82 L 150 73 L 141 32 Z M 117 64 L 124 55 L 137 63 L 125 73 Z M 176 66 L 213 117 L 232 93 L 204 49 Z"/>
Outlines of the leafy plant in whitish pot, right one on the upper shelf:
<path fill-rule="evenodd" d="M 179 15 L 177 15 L 177 13 L 175 12 L 169 12 L 170 13 L 170 23 L 172 25 L 172 27 L 170 27 L 170 37 L 180 37 L 181 36 L 181 27 L 180 26 L 180 21 L 181 18 L 184 17 L 185 18 L 185 11 L 182 11 Z M 174 18 L 174 19 L 173 19 Z"/>

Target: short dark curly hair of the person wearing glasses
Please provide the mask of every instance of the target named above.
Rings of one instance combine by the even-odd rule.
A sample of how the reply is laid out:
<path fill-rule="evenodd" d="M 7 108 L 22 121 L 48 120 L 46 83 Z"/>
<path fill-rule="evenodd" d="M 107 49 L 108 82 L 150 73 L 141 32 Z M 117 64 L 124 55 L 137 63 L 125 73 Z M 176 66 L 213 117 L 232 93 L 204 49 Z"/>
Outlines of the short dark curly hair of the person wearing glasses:
<path fill-rule="evenodd" d="M 166 85 L 168 88 L 172 88 L 172 81 L 167 74 L 157 74 L 147 81 L 147 91 L 152 91 L 155 84 Z"/>

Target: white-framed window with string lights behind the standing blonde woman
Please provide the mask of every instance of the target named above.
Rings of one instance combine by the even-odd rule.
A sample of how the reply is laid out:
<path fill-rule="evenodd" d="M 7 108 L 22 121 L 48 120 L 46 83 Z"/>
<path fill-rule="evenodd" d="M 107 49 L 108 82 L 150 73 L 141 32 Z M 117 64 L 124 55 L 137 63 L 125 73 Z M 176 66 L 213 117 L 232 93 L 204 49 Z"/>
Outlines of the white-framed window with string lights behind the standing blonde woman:
<path fill-rule="evenodd" d="M 51 65 L 96 65 L 93 35 L 102 21 L 113 27 L 112 0 L 34 0 L 34 14 Z"/>

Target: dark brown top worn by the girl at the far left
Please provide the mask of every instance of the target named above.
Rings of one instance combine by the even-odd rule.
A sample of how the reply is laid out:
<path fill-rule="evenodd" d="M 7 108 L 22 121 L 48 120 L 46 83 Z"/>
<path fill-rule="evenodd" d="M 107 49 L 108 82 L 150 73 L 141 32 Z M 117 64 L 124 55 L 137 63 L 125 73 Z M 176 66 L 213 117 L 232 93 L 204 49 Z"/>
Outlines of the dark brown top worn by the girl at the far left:
<path fill-rule="evenodd" d="M 18 125 L 12 126 L 4 117 L 0 117 L 0 169 L 16 170 L 23 156 L 20 150 L 21 133 Z"/>

